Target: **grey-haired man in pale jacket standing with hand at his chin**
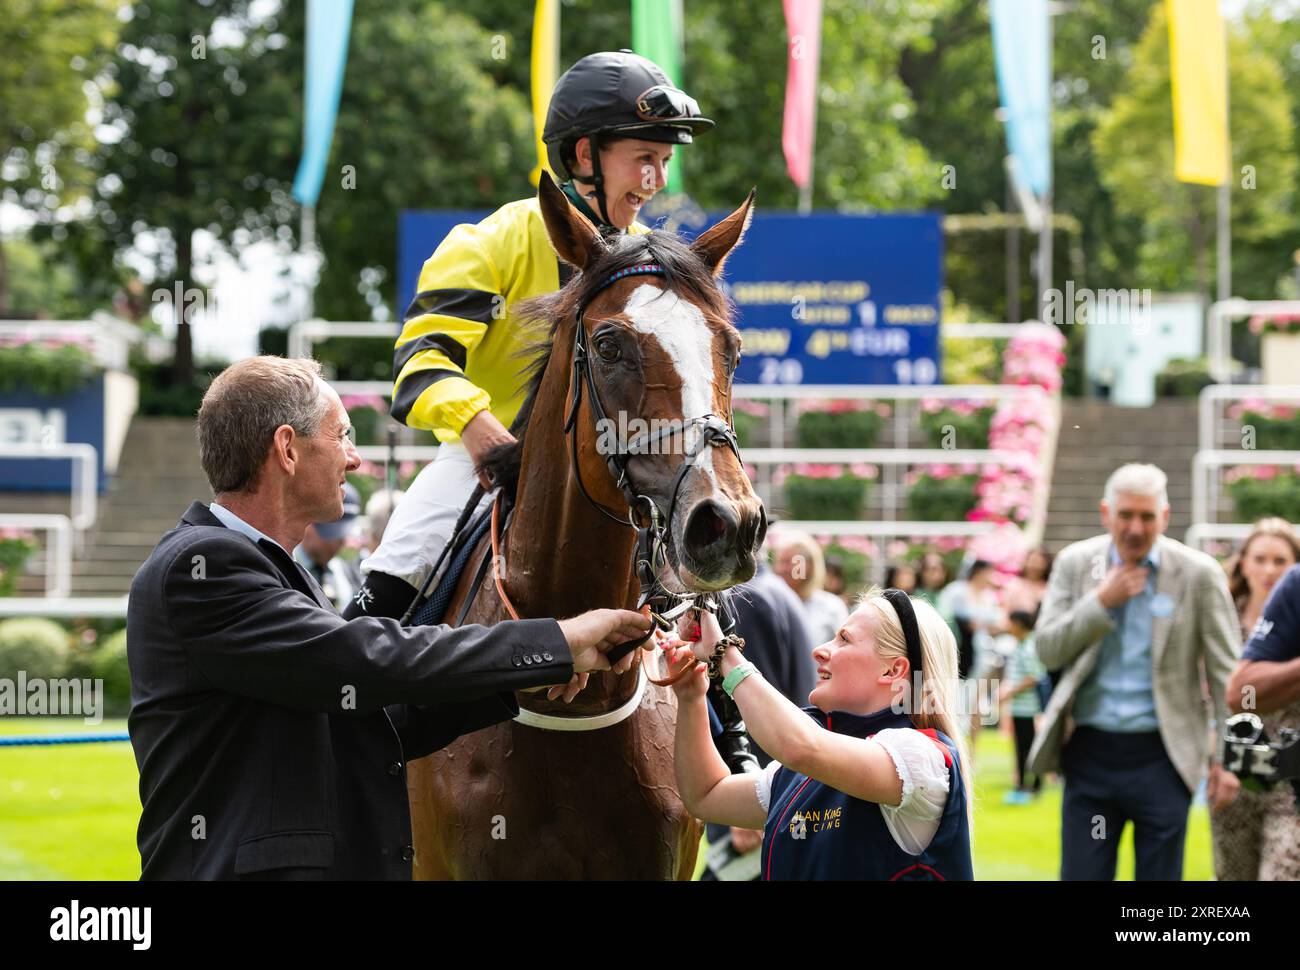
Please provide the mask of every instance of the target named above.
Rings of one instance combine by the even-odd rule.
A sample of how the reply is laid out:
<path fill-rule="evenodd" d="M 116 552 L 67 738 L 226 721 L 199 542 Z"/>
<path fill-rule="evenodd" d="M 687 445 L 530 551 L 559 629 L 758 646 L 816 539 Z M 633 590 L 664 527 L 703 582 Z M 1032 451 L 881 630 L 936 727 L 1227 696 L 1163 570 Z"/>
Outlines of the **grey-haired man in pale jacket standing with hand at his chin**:
<path fill-rule="evenodd" d="M 1062 771 L 1061 878 L 1114 879 L 1134 823 L 1138 879 L 1180 879 L 1192 792 L 1231 780 L 1212 763 L 1210 706 L 1240 654 L 1236 610 L 1213 558 L 1167 538 L 1165 473 L 1126 464 L 1106 481 L 1108 534 L 1057 557 L 1035 645 L 1061 670 L 1030 752 L 1030 771 Z M 1202 680 L 1204 671 L 1204 680 Z"/>

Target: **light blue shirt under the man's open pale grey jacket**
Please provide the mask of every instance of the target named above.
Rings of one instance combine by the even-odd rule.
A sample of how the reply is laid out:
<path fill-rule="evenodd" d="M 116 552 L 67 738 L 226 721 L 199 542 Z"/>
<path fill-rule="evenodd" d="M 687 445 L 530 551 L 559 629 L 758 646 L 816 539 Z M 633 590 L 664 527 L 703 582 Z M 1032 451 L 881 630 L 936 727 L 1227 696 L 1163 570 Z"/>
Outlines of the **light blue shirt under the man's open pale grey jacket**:
<path fill-rule="evenodd" d="M 1109 562 L 1119 564 L 1110 544 Z M 1158 731 L 1152 690 L 1152 602 L 1160 570 L 1160 540 L 1140 563 L 1150 570 L 1147 586 L 1128 602 L 1108 610 L 1115 628 L 1101 641 L 1101 655 L 1074 702 L 1074 720 L 1098 731 L 1138 733 Z"/>

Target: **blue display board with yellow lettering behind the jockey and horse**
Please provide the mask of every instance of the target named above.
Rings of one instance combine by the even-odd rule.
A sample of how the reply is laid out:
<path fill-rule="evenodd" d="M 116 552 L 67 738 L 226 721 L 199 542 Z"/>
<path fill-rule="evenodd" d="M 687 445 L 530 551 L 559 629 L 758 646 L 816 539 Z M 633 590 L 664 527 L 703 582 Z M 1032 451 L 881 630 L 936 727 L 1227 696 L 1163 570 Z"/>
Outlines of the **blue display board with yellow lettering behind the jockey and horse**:
<path fill-rule="evenodd" d="M 403 212 L 404 309 L 420 268 L 459 222 L 488 212 Z M 728 213 L 708 213 L 705 226 Z M 681 229 L 682 238 L 697 230 Z M 745 384 L 939 384 L 942 225 L 937 213 L 758 213 L 727 260 Z"/>

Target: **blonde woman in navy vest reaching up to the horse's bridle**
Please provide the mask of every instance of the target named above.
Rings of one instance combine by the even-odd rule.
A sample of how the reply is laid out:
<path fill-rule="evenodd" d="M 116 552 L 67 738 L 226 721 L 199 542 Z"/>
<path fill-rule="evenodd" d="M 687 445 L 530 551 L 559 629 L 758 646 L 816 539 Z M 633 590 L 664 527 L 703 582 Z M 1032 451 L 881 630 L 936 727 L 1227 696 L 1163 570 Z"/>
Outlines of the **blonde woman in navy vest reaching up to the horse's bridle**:
<path fill-rule="evenodd" d="M 714 657 L 754 740 L 774 758 L 732 775 L 710 739 L 705 663 L 677 692 L 677 791 L 708 822 L 763 828 L 760 872 L 779 879 L 971 879 L 971 797 L 957 727 L 957 644 L 932 606 L 868 590 L 818 646 L 811 707 L 763 680 L 705 614 L 675 666 Z M 911 711 L 910 714 L 907 711 Z"/>

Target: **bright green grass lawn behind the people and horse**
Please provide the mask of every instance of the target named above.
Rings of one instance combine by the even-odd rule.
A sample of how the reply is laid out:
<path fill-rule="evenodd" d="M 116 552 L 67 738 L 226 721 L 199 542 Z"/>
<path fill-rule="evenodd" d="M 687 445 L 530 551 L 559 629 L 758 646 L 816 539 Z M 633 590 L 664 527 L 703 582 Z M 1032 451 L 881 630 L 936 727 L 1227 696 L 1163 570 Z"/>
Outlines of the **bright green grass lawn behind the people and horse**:
<path fill-rule="evenodd" d="M 125 720 L 5 718 L 0 735 L 116 733 Z M 1030 805 L 1004 805 L 1014 776 L 1010 737 L 984 731 L 975 781 L 975 878 L 1056 879 L 1061 788 Z M 138 879 L 140 802 L 129 744 L 0 748 L 0 879 Z M 703 853 L 701 853 L 701 857 Z M 1132 826 L 1119 844 L 1119 878 L 1132 879 Z M 1184 879 L 1212 879 L 1204 805 L 1188 822 Z"/>

